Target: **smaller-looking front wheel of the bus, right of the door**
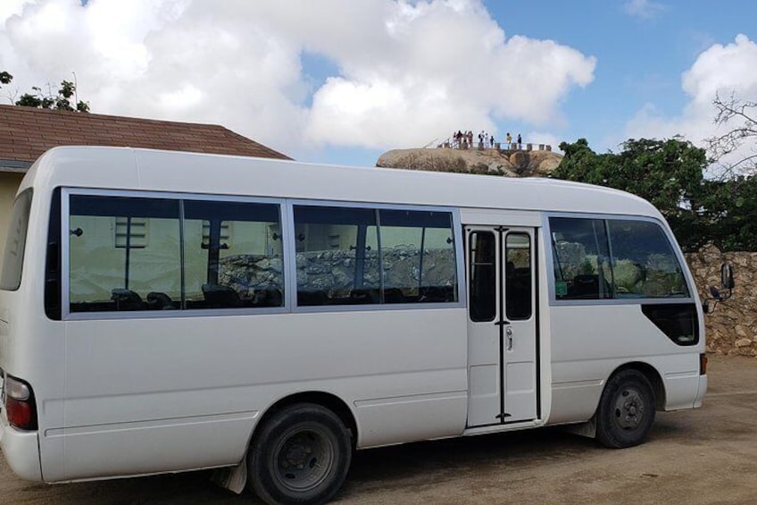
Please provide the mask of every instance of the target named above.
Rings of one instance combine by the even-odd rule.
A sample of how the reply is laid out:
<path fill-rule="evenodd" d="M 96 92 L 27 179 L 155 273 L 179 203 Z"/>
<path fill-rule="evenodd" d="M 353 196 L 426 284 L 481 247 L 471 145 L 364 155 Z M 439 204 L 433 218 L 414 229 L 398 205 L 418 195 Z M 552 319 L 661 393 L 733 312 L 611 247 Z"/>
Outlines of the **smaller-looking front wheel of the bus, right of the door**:
<path fill-rule="evenodd" d="M 652 384 L 637 370 L 622 370 L 604 386 L 596 409 L 596 440 L 612 449 L 646 440 L 654 424 Z"/>

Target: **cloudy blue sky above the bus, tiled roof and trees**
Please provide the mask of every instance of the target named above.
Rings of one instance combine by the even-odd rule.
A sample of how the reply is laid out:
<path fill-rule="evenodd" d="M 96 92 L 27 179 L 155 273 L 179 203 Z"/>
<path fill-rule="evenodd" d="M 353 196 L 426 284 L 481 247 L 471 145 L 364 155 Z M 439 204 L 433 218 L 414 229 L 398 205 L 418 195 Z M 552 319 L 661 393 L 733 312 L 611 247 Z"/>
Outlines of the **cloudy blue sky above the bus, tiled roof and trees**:
<path fill-rule="evenodd" d="M 0 103 L 75 72 L 93 113 L 336 164 L 459 129 L 701 145 L 716 92 L 757 100 L 755 17 L 751 0 L 0 0 Z"/>

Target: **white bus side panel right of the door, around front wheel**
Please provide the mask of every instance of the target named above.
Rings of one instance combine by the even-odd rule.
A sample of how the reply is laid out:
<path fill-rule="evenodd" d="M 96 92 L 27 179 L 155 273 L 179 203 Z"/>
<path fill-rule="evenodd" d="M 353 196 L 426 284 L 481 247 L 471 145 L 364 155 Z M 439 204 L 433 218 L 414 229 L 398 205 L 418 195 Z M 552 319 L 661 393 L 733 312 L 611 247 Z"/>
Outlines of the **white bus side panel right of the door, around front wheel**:
<path fill-rule="evenodd" d="M 700 387 L 699 344 L 670 341 L 638 305 L 551 307 L 552 409 L 548 424 L 586 421 L 619 366 L 643 362 L 661 375 L 666 409 L 694 407 Z"/>

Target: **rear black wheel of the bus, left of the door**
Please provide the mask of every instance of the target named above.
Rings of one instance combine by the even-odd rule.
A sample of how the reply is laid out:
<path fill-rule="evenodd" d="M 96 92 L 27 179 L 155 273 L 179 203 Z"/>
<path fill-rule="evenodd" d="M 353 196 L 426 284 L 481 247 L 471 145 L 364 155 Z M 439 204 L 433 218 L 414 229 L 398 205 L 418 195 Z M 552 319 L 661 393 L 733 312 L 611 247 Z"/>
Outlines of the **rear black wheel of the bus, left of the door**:
<path fill-rule="evenodd" d="M 341 419 L 320 405 L 298 403 L 255 434 L 247 476 L 266 503 L 325 503 L 345 482 L 351 459 L 350 433 Z"/>

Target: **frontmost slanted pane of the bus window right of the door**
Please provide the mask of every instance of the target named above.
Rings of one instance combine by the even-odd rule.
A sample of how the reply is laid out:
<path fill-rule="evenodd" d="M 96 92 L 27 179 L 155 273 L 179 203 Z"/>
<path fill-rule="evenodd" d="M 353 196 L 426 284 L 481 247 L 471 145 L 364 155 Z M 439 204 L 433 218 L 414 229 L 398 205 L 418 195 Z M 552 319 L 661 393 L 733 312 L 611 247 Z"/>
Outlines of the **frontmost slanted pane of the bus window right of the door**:
<path fill-rule="evenodd" d="M 658 224 L 629 220 L 609 223 L 618 298 L 688 297 L 681 265 Z"/>

